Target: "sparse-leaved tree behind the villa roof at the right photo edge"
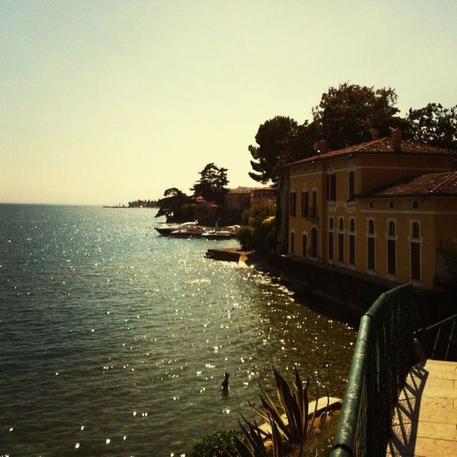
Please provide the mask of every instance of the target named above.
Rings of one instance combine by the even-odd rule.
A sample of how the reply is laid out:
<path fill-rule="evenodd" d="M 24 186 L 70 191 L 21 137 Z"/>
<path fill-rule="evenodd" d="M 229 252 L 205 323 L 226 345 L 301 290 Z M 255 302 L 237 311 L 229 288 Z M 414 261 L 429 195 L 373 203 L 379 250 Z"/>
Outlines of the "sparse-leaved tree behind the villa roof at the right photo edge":
<path fill-rule="evenodd" d="M 450 109 L 429 103 L 420 109 L 409 109 L 406 137 L 418 143 L 457 149 L 457 105 Z"/>

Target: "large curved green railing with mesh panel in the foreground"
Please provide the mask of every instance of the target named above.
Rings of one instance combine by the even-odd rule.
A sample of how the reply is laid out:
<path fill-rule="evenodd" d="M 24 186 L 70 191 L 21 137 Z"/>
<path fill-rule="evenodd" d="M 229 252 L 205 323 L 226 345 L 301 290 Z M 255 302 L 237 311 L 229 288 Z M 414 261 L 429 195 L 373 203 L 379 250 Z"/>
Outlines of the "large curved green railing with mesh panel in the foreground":
<path fill-rule="evenodd" d="M 398 393 L 413 364 L 411 285 L 381 294 L 361 318 L 330 457 L 384 457 Z"/>

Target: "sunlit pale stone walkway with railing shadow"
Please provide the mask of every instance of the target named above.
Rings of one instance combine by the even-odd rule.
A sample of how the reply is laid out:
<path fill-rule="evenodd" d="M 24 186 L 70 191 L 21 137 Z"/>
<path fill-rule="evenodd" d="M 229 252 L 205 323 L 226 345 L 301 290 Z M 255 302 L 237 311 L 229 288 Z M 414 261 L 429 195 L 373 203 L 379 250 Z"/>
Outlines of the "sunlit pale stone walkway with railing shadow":
<path fill-rule="evenodd" d="M 387 456 L 457 457 L 457 363 L 428 360 L 408 373 Z"/>

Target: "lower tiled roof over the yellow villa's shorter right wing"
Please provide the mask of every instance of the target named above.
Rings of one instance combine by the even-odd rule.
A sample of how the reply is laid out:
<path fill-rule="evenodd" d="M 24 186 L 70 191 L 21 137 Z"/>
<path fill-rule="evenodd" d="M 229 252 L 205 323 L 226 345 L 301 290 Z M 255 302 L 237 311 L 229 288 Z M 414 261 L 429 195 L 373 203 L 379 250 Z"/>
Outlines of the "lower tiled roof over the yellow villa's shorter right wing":
<path fill-rule="evenodd" d="M 356 198 L 386 198 L 397 196 L 457 196 L 457 171 L 423 174 L 415 178 L 388 184 Z"/>

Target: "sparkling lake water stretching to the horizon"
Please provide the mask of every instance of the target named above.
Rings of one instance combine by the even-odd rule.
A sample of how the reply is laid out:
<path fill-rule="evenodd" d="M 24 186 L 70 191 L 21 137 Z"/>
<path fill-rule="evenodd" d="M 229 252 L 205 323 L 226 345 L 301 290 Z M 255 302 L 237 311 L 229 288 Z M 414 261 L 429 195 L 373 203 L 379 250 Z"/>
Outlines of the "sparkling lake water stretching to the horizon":
<path fill-rule="evenodd" d="M 271 365 L 343 394 L 355 333 L 154 211 L 0 205 L 0 456 L 191 455 Z M 230 373 L 229 395 L 220 383 Z"/>

